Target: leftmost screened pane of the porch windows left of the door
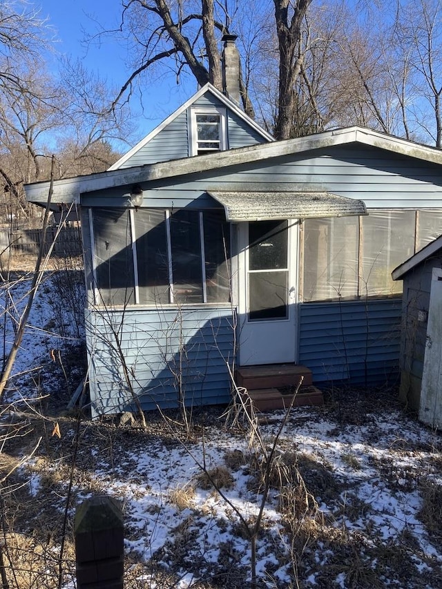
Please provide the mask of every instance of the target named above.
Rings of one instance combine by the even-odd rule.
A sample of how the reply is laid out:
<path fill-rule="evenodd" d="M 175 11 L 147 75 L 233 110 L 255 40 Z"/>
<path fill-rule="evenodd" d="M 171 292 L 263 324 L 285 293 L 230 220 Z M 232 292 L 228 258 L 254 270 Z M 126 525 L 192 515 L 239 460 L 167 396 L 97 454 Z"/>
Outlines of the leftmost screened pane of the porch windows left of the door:
<path fill-rule="evenodd" d="M 127 209 L 93 209 L 97 304 L 135 302 L 131 225 Z"/>

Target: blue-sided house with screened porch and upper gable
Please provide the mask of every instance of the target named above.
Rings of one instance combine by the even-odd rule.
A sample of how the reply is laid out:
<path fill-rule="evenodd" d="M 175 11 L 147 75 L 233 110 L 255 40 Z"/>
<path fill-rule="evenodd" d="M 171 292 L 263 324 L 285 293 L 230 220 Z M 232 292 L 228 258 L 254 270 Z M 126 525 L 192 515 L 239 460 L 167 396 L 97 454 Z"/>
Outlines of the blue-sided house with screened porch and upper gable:
<path fill-rule="evenodd" d="M 442 153 L 360 127 L 274 142 L 205 86 L 52 201 L 81 206 L 93 416 L 227 403 L 234 363 L 380 385 L 399 372 L 392 269 L 439 235 Z"/>

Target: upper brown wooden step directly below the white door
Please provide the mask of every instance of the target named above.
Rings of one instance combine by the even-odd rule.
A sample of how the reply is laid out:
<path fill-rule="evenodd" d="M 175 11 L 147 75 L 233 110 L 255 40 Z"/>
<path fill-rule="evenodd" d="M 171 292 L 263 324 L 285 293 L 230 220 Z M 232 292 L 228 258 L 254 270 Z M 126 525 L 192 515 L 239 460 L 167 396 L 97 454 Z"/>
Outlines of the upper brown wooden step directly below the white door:
<path fill-rule="evenodd" d="M 235 378 L 238 387 L 251 389 L 269 389 L 279 387 L 296 387 L 303 376 L 302 386 L 312 384 L 311 370 L 299 364 L 263 364 L 260 366 L 241 366 L 236 369 Z"/>

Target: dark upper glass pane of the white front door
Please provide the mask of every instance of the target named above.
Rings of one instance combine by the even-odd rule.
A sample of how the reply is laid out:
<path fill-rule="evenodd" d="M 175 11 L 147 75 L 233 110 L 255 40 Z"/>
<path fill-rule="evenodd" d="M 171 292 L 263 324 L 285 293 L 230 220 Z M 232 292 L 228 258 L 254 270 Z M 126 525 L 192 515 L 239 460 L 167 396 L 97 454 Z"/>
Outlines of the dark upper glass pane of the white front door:
<path fill-rule="evenodd" d="M 287 221 L 249 223 L 249 269 L 287 269 Z"/>

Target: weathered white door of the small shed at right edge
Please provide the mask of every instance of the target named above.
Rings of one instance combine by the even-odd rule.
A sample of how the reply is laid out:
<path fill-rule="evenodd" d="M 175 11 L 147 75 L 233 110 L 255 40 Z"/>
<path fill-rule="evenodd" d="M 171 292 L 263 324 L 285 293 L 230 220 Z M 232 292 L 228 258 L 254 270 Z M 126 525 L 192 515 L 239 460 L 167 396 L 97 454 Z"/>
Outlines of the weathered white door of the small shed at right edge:
<path fill-rule="evenodd" d="M 442 270 L 432 272 L 419 419 L 442 427 Z"/>

